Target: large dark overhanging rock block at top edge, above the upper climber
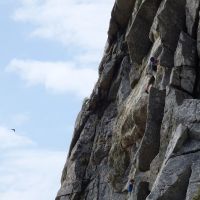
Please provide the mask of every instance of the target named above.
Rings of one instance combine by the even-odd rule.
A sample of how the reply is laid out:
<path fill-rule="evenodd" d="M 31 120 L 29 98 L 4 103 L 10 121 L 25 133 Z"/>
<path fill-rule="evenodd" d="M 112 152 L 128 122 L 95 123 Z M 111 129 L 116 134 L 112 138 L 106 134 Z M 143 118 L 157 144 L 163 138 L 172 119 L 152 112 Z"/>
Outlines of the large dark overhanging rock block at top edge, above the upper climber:
<path fill-rule="evenodd" d="M 185 26 L 185 3 L 185 0 L 162 1 L 151 27 L 151 38 L 159 36 L 164 46 L 172 52 L 175 51 L 180 31 Z"/>

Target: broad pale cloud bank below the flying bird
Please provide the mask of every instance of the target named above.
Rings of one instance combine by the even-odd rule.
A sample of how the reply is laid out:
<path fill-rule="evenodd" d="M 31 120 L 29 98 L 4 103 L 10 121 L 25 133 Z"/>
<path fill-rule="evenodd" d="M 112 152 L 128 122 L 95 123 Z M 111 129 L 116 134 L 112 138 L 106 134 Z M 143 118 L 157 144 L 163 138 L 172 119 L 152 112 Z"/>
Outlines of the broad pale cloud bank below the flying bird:
<path fill-rule="evenodd" d="M 2 148 L 2 145 L 5 147 L 5 141 L 9 145 Z M 42 150 L 33 143 L 24 136 L 11 134 L 5 127 L 0 127 L 1 200 L 55 199 L 65 152 Z"/>

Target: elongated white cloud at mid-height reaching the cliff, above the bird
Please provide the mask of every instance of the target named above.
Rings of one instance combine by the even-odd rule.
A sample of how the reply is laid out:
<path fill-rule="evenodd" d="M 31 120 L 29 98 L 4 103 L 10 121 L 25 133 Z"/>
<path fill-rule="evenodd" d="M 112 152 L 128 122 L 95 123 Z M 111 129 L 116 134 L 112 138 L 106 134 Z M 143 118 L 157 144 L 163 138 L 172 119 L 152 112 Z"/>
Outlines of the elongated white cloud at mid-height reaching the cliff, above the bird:
<path fill-rule="evenodd" d="M 70 62 L 14 59 L 7 71 L 19 74 L 28 86 L 42 84 L 55 93 L 71 92 L 81 97 L 90 95 L 97 80 L 96 70 L 77 68 Z"/>

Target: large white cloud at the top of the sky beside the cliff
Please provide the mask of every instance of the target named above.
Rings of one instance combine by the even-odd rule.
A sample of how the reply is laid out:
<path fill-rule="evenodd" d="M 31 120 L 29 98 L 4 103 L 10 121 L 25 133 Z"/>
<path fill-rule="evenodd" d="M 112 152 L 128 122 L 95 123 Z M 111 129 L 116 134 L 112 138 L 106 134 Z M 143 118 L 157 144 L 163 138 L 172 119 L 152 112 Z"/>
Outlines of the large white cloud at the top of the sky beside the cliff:
<path fill-rule="evenodd" d="M 114 0 L 20 0 L 13 18 L 32 23 L 32 36 L 101 49 Z"/>

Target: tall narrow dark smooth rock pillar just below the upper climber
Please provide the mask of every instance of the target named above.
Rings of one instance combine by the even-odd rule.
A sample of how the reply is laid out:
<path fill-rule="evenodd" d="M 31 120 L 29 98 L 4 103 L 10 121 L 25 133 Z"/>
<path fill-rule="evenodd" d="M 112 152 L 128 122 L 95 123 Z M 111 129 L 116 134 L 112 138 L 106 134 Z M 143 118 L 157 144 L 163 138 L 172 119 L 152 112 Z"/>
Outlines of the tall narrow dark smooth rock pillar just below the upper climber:
<path fill-rule="evenodd" d="M 165 106 L 165 92 L 151 88 L 147 123 L 145 133 L 138 153 L 138 168 L 147 171 L 150 163 L 159 152 L 160 147 L 160 127 Z"/>

